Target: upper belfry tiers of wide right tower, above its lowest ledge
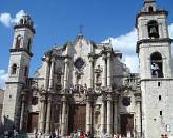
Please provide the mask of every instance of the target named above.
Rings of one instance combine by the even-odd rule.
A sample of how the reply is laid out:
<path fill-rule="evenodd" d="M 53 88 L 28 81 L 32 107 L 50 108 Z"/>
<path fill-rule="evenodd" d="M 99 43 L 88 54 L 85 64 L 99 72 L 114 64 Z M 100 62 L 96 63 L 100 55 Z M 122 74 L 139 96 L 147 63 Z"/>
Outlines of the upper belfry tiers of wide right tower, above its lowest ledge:
<path fill-rule="evenodd" d="M 167 11 L 157 8 L 155 0 L 145 0 L 142 11 L 137 15 L 137 53 L 142 79 L 172 76 L 167 15 Z"/>

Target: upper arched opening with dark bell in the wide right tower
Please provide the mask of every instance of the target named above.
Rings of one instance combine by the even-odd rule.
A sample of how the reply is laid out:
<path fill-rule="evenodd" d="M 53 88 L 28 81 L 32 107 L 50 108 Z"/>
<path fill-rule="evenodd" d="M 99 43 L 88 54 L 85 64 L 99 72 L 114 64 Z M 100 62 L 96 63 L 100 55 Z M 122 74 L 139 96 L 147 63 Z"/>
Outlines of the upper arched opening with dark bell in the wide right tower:
<path fill-rule="evenodd" d="M 159 38 L 159 25 L 157 21 L 148 22 L 148 37 Z"/>

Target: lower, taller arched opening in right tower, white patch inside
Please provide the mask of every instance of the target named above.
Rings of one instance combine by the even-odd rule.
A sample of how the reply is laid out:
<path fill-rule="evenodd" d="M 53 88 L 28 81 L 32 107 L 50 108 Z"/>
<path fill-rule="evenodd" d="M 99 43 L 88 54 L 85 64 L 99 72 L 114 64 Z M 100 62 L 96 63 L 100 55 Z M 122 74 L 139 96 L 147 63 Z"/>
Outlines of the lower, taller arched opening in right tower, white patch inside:
<path fill-rule="evenodd" d="M 162 55 L 159 52 L 154 52 L 150 55 L 151 77 L 163 78 L 163 61 Z"/>

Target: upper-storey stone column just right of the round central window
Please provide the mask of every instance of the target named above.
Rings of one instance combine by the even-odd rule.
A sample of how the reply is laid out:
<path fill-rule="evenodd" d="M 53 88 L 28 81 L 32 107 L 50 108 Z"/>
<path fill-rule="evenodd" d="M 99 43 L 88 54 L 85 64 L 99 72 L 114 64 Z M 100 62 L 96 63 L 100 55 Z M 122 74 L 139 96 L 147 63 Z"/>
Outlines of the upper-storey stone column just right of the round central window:
<path fill-rule="evenodd" d="M 94 88 L 94 66 L 93 57 L 89 57 L 89 88 Z"/>

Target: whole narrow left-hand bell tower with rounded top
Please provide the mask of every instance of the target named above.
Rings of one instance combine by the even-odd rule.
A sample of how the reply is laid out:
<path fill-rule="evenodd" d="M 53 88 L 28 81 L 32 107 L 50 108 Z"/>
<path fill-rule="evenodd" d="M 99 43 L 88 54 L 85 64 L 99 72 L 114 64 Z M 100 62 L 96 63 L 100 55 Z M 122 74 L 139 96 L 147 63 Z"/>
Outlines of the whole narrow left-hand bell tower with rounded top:
<path fill-rule="evenodd" d="M 21 90 L 26 83 L 33 56 L 32 42 L 35 29 L 31 17 L 25 13 L 14 26 L 13 47 L 10 49 L 8 79 L 4 93 L 4 129 L 18 129 L 20 122 Z"/>

